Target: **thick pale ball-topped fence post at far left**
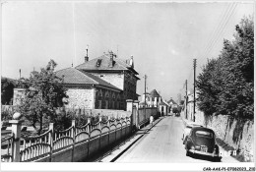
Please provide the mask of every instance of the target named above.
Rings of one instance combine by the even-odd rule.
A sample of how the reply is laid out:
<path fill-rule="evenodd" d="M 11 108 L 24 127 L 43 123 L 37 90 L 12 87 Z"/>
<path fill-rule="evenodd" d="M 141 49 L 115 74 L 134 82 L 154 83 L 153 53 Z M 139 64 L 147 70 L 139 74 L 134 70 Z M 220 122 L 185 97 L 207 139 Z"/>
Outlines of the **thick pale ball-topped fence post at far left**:
<path fill-rule="evenodd" d="M 10 120 L 12 124 L 12 135 L 14 136 L 13 143 L 13 162 L 20 162 L 20 146 L 21 146 L 21 130 L 22 130 L 22 120 Z"/>

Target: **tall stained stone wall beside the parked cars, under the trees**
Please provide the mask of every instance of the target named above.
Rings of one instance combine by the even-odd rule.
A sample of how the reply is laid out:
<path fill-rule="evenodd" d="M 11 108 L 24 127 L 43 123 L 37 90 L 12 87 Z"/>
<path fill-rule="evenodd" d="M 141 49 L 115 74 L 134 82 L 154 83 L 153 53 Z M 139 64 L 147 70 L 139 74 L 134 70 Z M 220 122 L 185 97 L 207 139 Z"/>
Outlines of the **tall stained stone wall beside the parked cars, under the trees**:
<path fill-rule="evenodd" d="M 227 115 L 206 117 L 197 110 L 196 123 L 211 128 L 228 148 L 238 151 L 242 161 L 254 161 L 254 124 L 252 121 L 231 120 Z"/>

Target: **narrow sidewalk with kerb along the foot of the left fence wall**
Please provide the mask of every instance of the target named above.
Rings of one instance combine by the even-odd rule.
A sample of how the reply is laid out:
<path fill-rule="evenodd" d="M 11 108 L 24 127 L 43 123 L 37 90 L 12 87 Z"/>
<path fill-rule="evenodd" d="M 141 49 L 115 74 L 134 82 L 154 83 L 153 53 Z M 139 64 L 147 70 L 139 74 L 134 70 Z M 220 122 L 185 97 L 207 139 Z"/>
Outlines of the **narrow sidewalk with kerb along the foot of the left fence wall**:
<path fill-rule="evenodd" d="M 160 120 L 164 117 L 160 117 L 159 119 L 154 121 L 154 125 L 151 126 L 149 124 L 148 126 L 138 130 L 135 134 L 134 137 L 131 138 L 128 142 L 122 144 L 119 146 L 117 149 L 113 150 L 110 154 L 107 156 L 103 157 L 99 162 L 114 162 L 118 157 L 120 157 L 126 150 L 128 150 L 134 143 L 139 141 L 147 132 L 149 132 L 154 126 L 156 126 Z"/>

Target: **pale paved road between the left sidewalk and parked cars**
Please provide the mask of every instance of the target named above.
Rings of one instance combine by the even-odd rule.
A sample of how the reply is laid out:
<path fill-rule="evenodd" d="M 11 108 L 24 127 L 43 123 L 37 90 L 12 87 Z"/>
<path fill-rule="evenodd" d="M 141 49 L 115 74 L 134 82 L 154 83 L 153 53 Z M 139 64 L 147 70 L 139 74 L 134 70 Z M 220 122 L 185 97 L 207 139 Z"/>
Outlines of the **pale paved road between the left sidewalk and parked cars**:
<path fill-rule="evenodd" d="M 115 162 L 182 162 L 201 163 L 211 159 L 186 156 L 181 136 L 183 122 L 180 117 L 167 116 L 153 127 L 142 139 L 131 146 Z M 237 162 L 226 156 L 223 162 Z"/>

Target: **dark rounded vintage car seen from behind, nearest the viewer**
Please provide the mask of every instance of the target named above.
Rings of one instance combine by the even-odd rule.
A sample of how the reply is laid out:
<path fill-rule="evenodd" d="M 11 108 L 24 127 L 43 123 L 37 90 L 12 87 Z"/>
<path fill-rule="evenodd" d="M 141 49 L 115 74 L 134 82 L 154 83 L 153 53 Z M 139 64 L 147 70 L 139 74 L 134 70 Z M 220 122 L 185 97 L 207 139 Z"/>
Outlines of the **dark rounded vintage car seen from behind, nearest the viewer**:
<path fill-rule="evenodd" d="M 191 129 L 185 144 L 186 155 L 193 156 L 201 154 L 221 159 L 220 149 L 216 143 L 215 132 L 205 127 L 194 127 Z"/>

